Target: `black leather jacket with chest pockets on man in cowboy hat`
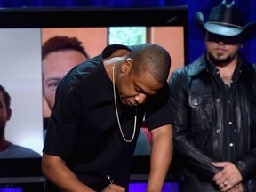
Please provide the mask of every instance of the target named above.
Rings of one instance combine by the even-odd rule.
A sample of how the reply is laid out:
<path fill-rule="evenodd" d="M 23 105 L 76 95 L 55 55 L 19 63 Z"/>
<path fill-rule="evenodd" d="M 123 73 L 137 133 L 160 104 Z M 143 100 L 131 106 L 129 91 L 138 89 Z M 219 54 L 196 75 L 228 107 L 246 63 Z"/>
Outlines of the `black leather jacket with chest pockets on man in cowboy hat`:
<path fill-rule="evenodd" d="M 240 57 L 240 56 L 239 56 Z M 256 68 L 241 57 L 230 88 L 206 61 L 172 73 L 174 157 L 181 166 L 180 189 L 218 191 L 212 161 L 233 162 L 244 191 L 256 192 Z"/>

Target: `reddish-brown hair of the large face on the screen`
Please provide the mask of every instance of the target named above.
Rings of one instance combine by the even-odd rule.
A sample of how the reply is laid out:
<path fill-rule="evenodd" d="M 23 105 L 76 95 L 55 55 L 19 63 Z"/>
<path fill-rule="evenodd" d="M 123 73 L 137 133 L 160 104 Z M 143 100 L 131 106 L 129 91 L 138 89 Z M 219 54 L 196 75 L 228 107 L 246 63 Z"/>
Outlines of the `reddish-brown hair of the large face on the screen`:
<path fill-rule="evenodd" d="M 51 52 L 58 52 L 63 50 L 75 50 L 81 52 L 86 60 L 90 59 L 90 56 L 85 51 L 82 42 L 78 41 L 76 37 L 69 36 L 53 36 L 44 42 L 42 47 L 42 58 L 44 58 Z"/>

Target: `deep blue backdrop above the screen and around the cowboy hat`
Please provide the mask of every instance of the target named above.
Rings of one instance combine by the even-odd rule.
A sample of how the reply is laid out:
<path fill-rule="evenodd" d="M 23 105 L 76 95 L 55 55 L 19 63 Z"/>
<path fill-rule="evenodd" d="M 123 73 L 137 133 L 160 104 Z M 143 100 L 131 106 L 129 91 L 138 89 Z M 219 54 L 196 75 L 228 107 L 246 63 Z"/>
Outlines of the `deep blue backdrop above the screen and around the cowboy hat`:
<path fill-rule="evenodd" d="M 227 1 L 231 3 L 231 0 Z M 221 0 L 1 0 L 0 7 L 164 7 L 187 5 L 188 62 L 191 62 L 204 52 L 204 34 L 195 25 L 195 13 L 197 11 L 203 12 L 204 21 L 206 21 L 212 7 L 220 4 L 220 2 Z M 256 21 L 256 1 L 235 0 L 235 3 L 241 12 L 244 13 L 245 23 Z M 93 20 L 93 18 L 84 18 L 84 20 Z M 247 60 L 256 63 L 256 39 L 247 41 L 241 52 Z"/>

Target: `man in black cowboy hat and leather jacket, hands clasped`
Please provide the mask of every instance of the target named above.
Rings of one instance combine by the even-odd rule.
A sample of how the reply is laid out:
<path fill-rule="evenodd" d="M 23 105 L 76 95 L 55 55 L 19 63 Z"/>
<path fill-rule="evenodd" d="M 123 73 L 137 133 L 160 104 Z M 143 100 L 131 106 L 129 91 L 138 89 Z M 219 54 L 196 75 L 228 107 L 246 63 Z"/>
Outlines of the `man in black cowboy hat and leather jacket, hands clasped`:
<path fill-rule="evenodd" d="M 256 35 L 234 2 L 204 23 L 204 54 L 172 73 L 174 156 L 181 192 L 256 191 L 256 68 L 239 53 Z"/>

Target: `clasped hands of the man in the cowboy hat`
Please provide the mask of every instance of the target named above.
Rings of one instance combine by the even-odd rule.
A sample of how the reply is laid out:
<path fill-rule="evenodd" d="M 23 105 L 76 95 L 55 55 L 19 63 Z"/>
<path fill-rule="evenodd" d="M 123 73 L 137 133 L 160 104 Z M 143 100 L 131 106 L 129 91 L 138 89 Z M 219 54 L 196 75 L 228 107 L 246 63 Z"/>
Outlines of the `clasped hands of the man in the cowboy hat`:
<path fill-rule="evenodd" d="M 238 184 L 241 183 L 243 178 L 235 164 L 232 164 L 231 162 L 215 162 L 212 163 L 212 165 L 215 167 L 223 168 L 220 172 L 215 174 L 212 179 L 215 184 L 219 186 L 221 192 L 229 192 L 229 190 L 230 192 L 233 192 L 233 189 L 234 192 L 239 191 L 238 189 L 241 188 L 241 186 Z M 235 188 L 236 185 L 237 188 Z"/>

